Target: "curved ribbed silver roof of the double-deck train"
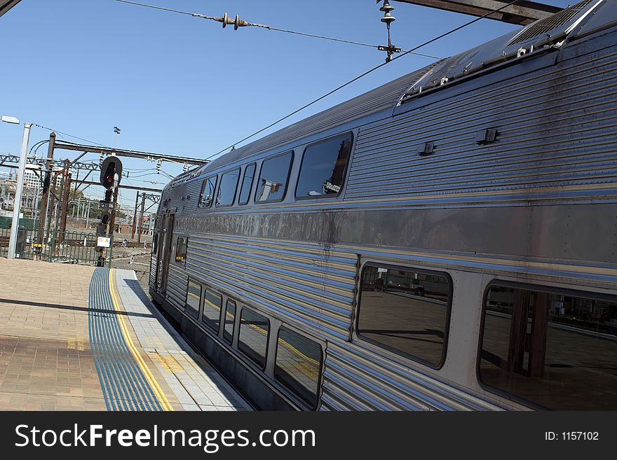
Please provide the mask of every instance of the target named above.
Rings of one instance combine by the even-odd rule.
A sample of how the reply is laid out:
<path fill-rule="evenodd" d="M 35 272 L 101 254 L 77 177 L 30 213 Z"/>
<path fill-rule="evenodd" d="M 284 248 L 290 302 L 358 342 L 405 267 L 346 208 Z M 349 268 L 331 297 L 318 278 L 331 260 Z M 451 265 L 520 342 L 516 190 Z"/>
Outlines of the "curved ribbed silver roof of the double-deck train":
<path fill-rule="evenodd" d="M 602 14 L 597 10 L 602 7 Z M 219 169 L 253 155 L 271 151 L 333 127 L 350 123 L 374 113 L 394 110 L 421 93 L 447 86 L 448 83 L 489 69 L 496 64 L 534 51 L 555 46 L 567 36 L 587 34 L 617 20 L 617 0 L 583 0 L 559 13 L 538 20 L 454 57 L 440 60 L 395 81 L 354 97 L 337 106 L 273 132 L 262 139 L 236 148 L 199 169 L 181 174 L 175 181 L 184 182 L 194 176 Z"/>

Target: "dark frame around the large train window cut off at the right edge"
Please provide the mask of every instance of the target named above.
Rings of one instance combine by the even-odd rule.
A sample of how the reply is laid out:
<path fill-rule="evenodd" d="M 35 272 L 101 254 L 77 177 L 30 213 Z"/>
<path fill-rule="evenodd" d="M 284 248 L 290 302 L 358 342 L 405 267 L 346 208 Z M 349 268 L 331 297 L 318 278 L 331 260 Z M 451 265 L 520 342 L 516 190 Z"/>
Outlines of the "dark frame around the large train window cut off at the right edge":
<path fill-rule="evenodd" d="M 513 401 L 514 403 L 518 403 L 524 407 L 529 407 L 533 410 L 551 410 L 543 405 L 539 405 L 538 403 L 534 403 L 534 401 L 523 398 L 522 396 L 517 396 L 515 393 L 508 393 L 503 389 L 499 389 L 496 386 L 491 386 L 490 384 L 482 382 L 482 378 L 480 376 L 480 364 L 482 361 L 482 343 L 484 340 L 484 323 L 486 318 L 486 310 L 487 310 L 487 300 L 489 291 L 492 287 L 504 287 L 504 288 L 513 288 L 520 289 L 522 291 L 534 291 L 539 293 L 548 293 L 548 294 L 561 294 L 564 296 L 572 296 L 577 298 L 585 298 L 589 300 L 606 300 L 609 302 L 617 302 L 617 296 L 606 294 L 606 293 L 598 293 L 594 291 L 584 291 L 582 289 L 576 288 L 562 288 L 560 286 L 548 286 L 545 284 L 534 284 L 534 283 L 522 283 L 519 281 L 508 281 L 504 279 L 491 279 L 484 288 L 484 293 L 482 293 L 482 310 L 480 311 L 480 330 L 478 331 L 478 342 L 477 342 L 477 351 L 476 351 L 476 363 L 475 363 L 475 377 L 477 384 L 480 385 L 484 391 L 489 394 L 501 396 L 506 398 L 507 400 Z M 553 409 L 554 410 L 554 409 Z M 575 409 L 570 409 L 575 410 Z M 584 409 L 578 409 L 584 410 Z"/>

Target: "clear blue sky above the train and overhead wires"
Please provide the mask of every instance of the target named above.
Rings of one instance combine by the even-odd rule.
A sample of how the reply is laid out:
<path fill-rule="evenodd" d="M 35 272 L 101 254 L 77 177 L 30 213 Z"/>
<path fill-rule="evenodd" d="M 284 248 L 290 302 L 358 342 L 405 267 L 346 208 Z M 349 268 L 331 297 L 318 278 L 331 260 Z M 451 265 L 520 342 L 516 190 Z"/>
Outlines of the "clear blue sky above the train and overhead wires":
<path fill-rule="evenodd" d="M 227 12 L 282 29 L 386 44 L 381 5 L 374 0 L 141 3 L 210 16 Z M 564 0 L 547 3 L 568 4 Z M 392 25 L 393 43 L 404 49 L 470 20 L 466 15 L 398 1 L 392 5 L 397 18 Z M 452 56 L 516 28 L 481 20 L 419 51 Z M 114 145 L 113 127 L 118 126 L 122 129 L 118 148 L 196 158 L 243 139 L 385 58 L 373 48 L 254 27 L 222 29 L 217 22 L 114 0 L 22 0 L 0 18 L 0 43 L 1 115 L 108 146 Z M 426 57 L 402 57 L 269 132 L 430 62 Z M 47 130 L 34 127 L 30 146 L 48 135 Z M 0 153 L 18 153 L 21 137 L 20 127 L 0 123 Z M 45 154 L 44 148 L 41 153 Z M 65 155 L 75 157 L 72 152 L 56 152 L 58 158 Z M 86 157 L 86 161 L 97 159 L 97 155 Z M 135 169 L 133 178 L 123 179 L 130 185 L 162 188 L 168 181 L 156 174 L 154 163 L 123 162 Z M 164 163 L 163 170 L 176 175 L 182 168 Z M 102 195 L 101 187 L 90 190 L 93 197 Z M 122 200 L 134 202 L 135 192 L 124 191 Z"/>

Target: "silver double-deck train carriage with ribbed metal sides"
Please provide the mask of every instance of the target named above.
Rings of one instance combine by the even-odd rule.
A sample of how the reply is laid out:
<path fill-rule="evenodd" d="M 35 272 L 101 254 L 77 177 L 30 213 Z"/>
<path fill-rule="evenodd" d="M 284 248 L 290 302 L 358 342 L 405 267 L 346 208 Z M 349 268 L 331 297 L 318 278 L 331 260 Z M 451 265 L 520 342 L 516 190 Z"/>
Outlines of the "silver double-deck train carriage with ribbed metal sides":
<path fill-rule="evenodd" d="M 255 407 L 617 409 L 617 1 L 173 179 L 150 294 Z"/>

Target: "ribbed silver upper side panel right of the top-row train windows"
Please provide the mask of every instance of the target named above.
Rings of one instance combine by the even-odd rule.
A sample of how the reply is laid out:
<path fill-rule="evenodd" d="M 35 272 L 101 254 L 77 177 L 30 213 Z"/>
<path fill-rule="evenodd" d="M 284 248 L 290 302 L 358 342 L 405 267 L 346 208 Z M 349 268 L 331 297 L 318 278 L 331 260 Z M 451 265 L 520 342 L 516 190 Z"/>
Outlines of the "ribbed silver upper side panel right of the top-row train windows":
<path fill-rule="evenodd" d="M 345 198 L 616 181 L 616 75 L 613 50 L 368 125 Z M 475 132 L 487 128 L 498 130 L 496 143 L 477 145 Z M 426 141 L 435 153 L 421 157 Z"/>

